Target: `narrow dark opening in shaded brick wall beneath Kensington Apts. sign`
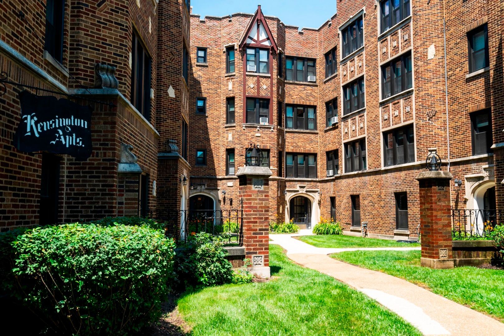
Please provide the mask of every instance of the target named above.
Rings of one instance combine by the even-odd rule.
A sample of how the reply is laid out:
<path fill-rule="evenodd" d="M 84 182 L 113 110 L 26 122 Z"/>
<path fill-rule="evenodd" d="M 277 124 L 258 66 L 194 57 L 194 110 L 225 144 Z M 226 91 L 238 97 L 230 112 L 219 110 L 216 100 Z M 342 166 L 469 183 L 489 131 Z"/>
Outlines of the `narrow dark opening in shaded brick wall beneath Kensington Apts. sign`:
<path fill-rule="evenodd" d="M 42 176 L 40 180 L 40 225 L 58 222 L 59 199 L 59 156 L 42 154 Z"/>

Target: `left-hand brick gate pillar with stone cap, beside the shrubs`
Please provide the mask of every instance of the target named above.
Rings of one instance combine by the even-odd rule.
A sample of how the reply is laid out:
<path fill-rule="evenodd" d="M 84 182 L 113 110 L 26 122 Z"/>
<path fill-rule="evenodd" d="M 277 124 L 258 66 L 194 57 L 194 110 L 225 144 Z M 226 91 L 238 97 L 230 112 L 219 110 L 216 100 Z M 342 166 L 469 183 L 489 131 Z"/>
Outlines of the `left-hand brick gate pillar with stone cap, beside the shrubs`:
<path fill-rule="evenodd" d="M 263 278 L 270 277 L 269 248 L 269 180 L 268 167 L 245 166 L 236 174 L 243 198 L 243 247 L 250 259 L 250 271 Z"/>

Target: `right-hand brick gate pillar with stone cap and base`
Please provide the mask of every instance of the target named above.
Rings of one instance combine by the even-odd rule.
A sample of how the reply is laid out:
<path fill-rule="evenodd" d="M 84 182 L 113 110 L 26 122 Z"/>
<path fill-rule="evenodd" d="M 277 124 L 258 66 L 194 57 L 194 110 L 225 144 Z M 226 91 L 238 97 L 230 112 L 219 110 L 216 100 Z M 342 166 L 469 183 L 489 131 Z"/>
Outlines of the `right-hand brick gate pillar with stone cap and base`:
<path fill-rule="evenodd" d="M 449 172 L 429 171 L 421 172 L 416 179 L 420 200 L 420 264 L 434 269 L 453 268 L 450 210 L 453 176 Z"/>

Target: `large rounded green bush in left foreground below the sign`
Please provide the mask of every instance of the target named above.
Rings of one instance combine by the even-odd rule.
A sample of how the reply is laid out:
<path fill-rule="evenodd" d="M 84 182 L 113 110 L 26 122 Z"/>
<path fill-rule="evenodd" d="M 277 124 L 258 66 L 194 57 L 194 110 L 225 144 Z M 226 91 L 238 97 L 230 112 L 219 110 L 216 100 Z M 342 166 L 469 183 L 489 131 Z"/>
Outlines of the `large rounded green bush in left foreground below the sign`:
<path fill-rule="evenodd" d="M 12 236 L 2 235 L 0 246 Z M 2 252 L 5 248 L 2 248 Z M 172 239 L 147 225 L 65 224 L 19 235 L 12 294 L 61 334 L 127 334 L 156 320 L 172 276 Z"/>

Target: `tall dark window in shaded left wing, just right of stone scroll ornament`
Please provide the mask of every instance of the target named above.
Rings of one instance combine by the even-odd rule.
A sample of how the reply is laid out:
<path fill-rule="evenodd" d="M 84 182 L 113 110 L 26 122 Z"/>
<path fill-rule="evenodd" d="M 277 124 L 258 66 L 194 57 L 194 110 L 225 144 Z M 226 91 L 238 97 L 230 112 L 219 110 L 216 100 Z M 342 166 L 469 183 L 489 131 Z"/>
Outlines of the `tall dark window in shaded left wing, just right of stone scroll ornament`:
<path fill-rule="evenodd" d="M 145 119 L 150 120 L 151 111 L 151 57 L 133 32 L 131 103 Z"/>

